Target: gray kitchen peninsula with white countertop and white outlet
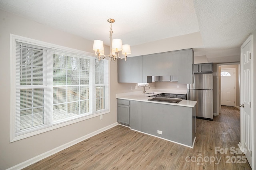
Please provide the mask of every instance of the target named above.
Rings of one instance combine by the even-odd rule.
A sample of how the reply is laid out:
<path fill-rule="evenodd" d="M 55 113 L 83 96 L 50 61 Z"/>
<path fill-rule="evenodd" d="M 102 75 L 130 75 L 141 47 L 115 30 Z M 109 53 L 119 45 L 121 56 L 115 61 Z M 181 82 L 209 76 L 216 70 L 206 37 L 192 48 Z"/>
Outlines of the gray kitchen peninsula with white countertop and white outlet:
<path fill-rule="evenodd" d="M 161 93 L 177 94 L 177 91 L 154 89 L 116 94 L 118 122 L 130 129 L 168 141 L 193 147 L 196 132 L 196 101 L 182 100 L 178 103 L 150 101 Z M 186 94 L 186 92 L 178 92 Z"/>

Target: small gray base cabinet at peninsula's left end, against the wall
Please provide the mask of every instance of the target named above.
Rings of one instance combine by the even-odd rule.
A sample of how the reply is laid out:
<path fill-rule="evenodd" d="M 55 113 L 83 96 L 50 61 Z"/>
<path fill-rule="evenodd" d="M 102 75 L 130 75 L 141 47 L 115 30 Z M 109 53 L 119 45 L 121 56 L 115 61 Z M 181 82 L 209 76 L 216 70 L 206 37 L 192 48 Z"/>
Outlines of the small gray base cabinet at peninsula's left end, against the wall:
<path fill-rule="evenodd" d="M 117 99 L 117 121 L 130 126 L 130 100 Z"/>

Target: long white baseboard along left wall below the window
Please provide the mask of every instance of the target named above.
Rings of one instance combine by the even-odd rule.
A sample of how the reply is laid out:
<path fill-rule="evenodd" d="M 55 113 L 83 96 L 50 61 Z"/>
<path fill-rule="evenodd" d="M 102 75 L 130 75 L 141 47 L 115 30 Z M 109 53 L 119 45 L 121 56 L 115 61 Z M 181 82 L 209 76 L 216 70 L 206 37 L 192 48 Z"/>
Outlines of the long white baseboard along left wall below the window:
<path fill-rule="evenodd" d="M 24 162 L 21 162 L 20 164 L 17 164 L 17 165 L 15 165 L 15 166 L 12 166 L 11 168 L 8 168 L 7 170 L 21 170 L 21 169 L 23 169 L 23 168 L 26 168 L 27 166 L 32 165 L 32 164 L 38 162 L 39 160 L 42 160 L 42 159 L 47 158 L 47 157 L 49 157 L 49 156 L 51 156 L 51 155 L 53 155 L 53 154 L 56 154 L 57 152 L 60 152 L 61 150 L 64 150 L 64 149 L 66 149 L 66 148 L 68 148 L 68 147 L 71 147 L 71 146 L 73 146 L 73 145 L 75 145 L 75 144 L 77 144 L 77 143 L 79 143 L 79 142 L 82 142 L 82 141 L 84 141 L 84 140 L 86 140 L 86 139 L 88 139 L 88 138 L 90 138 L 90 137 L 93 137 L 93 136 L 95 136 L 95 135 L 98 135 L 99 133 L 102 133 L 102 132 L 104 132 L 104 131 L 106 131 L 106 130 L 112 128 L 112 127 L 115 127 L 115 126 L 117 126 L 117 125 L 118 125 L 118 123 L 116 122 L 116 123 L 113 123 L 113 124 L 108 125 L 108 126 L 106 126 L 106 127 L 103 127 L 102 129 L 99 129 L 99 130 L 97 130 L 97 131 L 94 131 L 94 132 L 92 132 L 92 133 L 89 133 L 88 135 L 85 135 L 85 136 L 83 136 L 83 137 L 80 137 L 80 138 L 78 138 L 78 139 L 75 139 L 74 141 L 71 141 L 71 142 L 66 143 L 66 144 L 64 144 L 64 145 L 61 145 L 61 146 L 59 146 L 59 147 L 57 147 L 57 148 L 54 148 L 54 149 L 49 150 L 49 151 L 47 151 L 47 152 L 44 152 L 44 153 L 42 153 L 42 154 L 40 154 L 40 155 L 38 155 L 38 156 L 35 156 L 34 158 L 31 158 L 31 159 L 29 159 L 29 160 L 26 160 L 26 161 L 24 161 Z"/>

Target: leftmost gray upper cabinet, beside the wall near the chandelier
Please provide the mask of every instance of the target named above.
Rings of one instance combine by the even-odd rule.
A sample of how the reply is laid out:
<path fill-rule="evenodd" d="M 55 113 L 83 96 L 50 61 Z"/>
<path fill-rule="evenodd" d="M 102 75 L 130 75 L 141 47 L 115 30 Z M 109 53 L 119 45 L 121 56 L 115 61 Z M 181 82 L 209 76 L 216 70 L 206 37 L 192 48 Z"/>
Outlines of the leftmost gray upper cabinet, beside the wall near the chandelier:
<path fill-rule="evenodd" d="M 117 60 L 118 82 L 142 82 L 142 56 L 128 57 L 126 61 Z"/>

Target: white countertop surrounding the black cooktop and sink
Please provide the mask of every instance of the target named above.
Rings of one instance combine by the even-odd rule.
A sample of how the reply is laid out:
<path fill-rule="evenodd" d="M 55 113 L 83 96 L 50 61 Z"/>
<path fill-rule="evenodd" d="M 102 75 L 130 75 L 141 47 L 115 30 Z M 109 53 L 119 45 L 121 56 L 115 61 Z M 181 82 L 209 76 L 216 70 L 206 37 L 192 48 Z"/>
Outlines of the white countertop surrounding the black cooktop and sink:
<path fill-rule="evenodd" d="M 154 94 L 144 94 L 142 91 L 137 91 L 137 92 L 129 92 L 129 93 L 120 93 L 116 94 L 117 99 L 125 99 L 125 100 L 135 100 L 135 101 L 140 101 L 140 102 L 150 102 L 150 103 L 158 103 L 158 104 L 169 104 L 169 105 L 176 105 L 176 106 L 185 106 L 185 107 L 195 107 L 196 106 L 196 101 L 192 100 L 182 100 L 178 104 L 176 103 L 168 103 L 168 102 L 157 102 L 157 101 L 150 101 L 148 99 L 152 99 L 154 97 L 149 97 L 153 96 L 156 94 L 161 94 L 161 93 L 169 93 L 169 94 L 186 94 L 186 90 L 157 90 L 157 89 L 152 89 L 152 90 L 147 90 L 146 93 L 152 93 Z"/>

